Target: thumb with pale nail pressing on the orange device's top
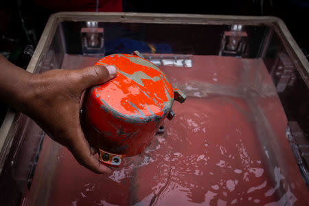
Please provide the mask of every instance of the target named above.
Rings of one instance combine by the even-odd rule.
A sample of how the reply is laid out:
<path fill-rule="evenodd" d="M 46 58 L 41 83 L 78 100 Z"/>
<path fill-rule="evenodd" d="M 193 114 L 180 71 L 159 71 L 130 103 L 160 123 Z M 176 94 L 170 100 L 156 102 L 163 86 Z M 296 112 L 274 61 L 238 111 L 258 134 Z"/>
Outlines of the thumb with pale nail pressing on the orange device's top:
<path fill-rule="evenodd" d="M 78 71 L 80 73 L 80 89 L 83 91 L 97 84 L 103 84 L 115 78 L 117 69 L 113 65 L 95 65 Z"/>

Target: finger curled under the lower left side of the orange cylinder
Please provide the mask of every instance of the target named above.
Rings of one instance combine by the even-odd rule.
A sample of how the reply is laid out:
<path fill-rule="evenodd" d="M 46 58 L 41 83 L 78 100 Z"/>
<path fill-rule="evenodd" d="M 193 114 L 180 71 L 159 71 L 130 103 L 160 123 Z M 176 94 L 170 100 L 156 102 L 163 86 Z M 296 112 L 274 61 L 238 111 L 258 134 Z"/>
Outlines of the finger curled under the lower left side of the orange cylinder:
<path fill-rule="evenodd" d="M 95 157 L 96 152 L 91 150 L 81 128 L 78 129 L 75 136 L 76 137 L 73 137 L 73 141 L 70 143 L 68 148 L 76 160 L 85 168 L 88 168 L 95 173 L 110 173 L 111 169 L 104 166 L 100 163 L 98 158 Z"/>

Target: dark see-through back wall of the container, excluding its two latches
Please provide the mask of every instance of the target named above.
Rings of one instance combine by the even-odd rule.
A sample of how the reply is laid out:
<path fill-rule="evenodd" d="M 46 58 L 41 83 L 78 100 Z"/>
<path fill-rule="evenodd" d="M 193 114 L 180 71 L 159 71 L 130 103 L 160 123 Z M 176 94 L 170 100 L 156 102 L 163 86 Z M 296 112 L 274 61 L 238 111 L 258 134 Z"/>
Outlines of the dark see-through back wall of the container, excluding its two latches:
<path fill-rule="evenodd" d="M 85 22 L 65 21 L 61 30 L 67 54 L 82 54 L 80 30 L 86 27 Z M 185 25 L 185 24 L 155 24 L 155 23 L 98 23 L 104 28 L 104 43 L 106 55 L 119 52 L 131 52 L 128 45 L 134 44 L 135 50 L 145 50 L 143 43 L 158 45 L 157 53 L 218 55 L 222 34 L 231 30 L 231 25 Z M 249 58 L 260 54 L 267 26 L 246 26 L 249 37 Z M 60 32 L 60 31 L 58 31 Z M 133 41 L 119 41 L 119 39 Z M 136 41 L 136 42 L 135 42 Z M 141 51 L 144 52 L 144 51 Z"/>

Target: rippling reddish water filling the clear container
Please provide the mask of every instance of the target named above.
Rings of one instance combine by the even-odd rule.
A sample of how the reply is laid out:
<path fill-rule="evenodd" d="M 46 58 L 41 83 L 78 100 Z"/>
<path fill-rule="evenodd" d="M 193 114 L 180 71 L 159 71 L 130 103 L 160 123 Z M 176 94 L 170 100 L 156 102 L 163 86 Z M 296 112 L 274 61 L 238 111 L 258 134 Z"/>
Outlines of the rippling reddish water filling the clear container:
<path fill-rule="evenodd" d="M 45 137 L 22 205 L 306 205 L 308 190 L 286 139 L 287 119 L 261 59 L 191 56 L 163 66 L 174 102 L 141 155 L 111 174 L 93 174 Z M 62 69 L 98 58 L 66 55 Z M 307 198 L 306 198 L 307 197 Z"/>

